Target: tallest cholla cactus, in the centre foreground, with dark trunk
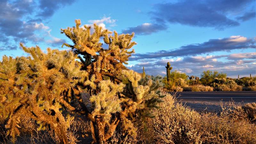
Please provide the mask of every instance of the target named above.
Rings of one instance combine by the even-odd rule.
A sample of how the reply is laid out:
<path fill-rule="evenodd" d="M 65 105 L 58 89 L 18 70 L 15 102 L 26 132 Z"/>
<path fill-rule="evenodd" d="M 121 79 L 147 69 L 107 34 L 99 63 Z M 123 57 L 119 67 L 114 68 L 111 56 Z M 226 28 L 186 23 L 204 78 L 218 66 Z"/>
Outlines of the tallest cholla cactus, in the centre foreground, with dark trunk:
<path fill-rule="evenodd" d="M 74 45 L 63 45 L 80 55 L 82 70 L 89 74 L 82 86 L 90 92 L 92 111 L 88 111 L 82 103 L 81 107 L 92 121 L 94 142 L 106 142 L 119 123 L 124 131 L 135 135 L 133 116 L 150 116 L 146 113 L 147 109 L 157 107 L 158 98 L 162 96 L 160 82 L 147 78 L 141 80 L 140 74 L 127 70 L 123 65 L 134 52 L 128 51 L 136 44 L 132 42 L 133 33 L 118 35 L 114 31 L 112 35 L 112 32 L 94 24 L 91 34 L 91 27 L 81 28 L 81 21 L 75 22 L 75 27 L 61 29 L 61 33 L 74 42 Z M 108 49 L 101 47 L 100 37 L 103 37 Z M 103 80 L 104 77 L 109 77 L 109 80 Z"/>

